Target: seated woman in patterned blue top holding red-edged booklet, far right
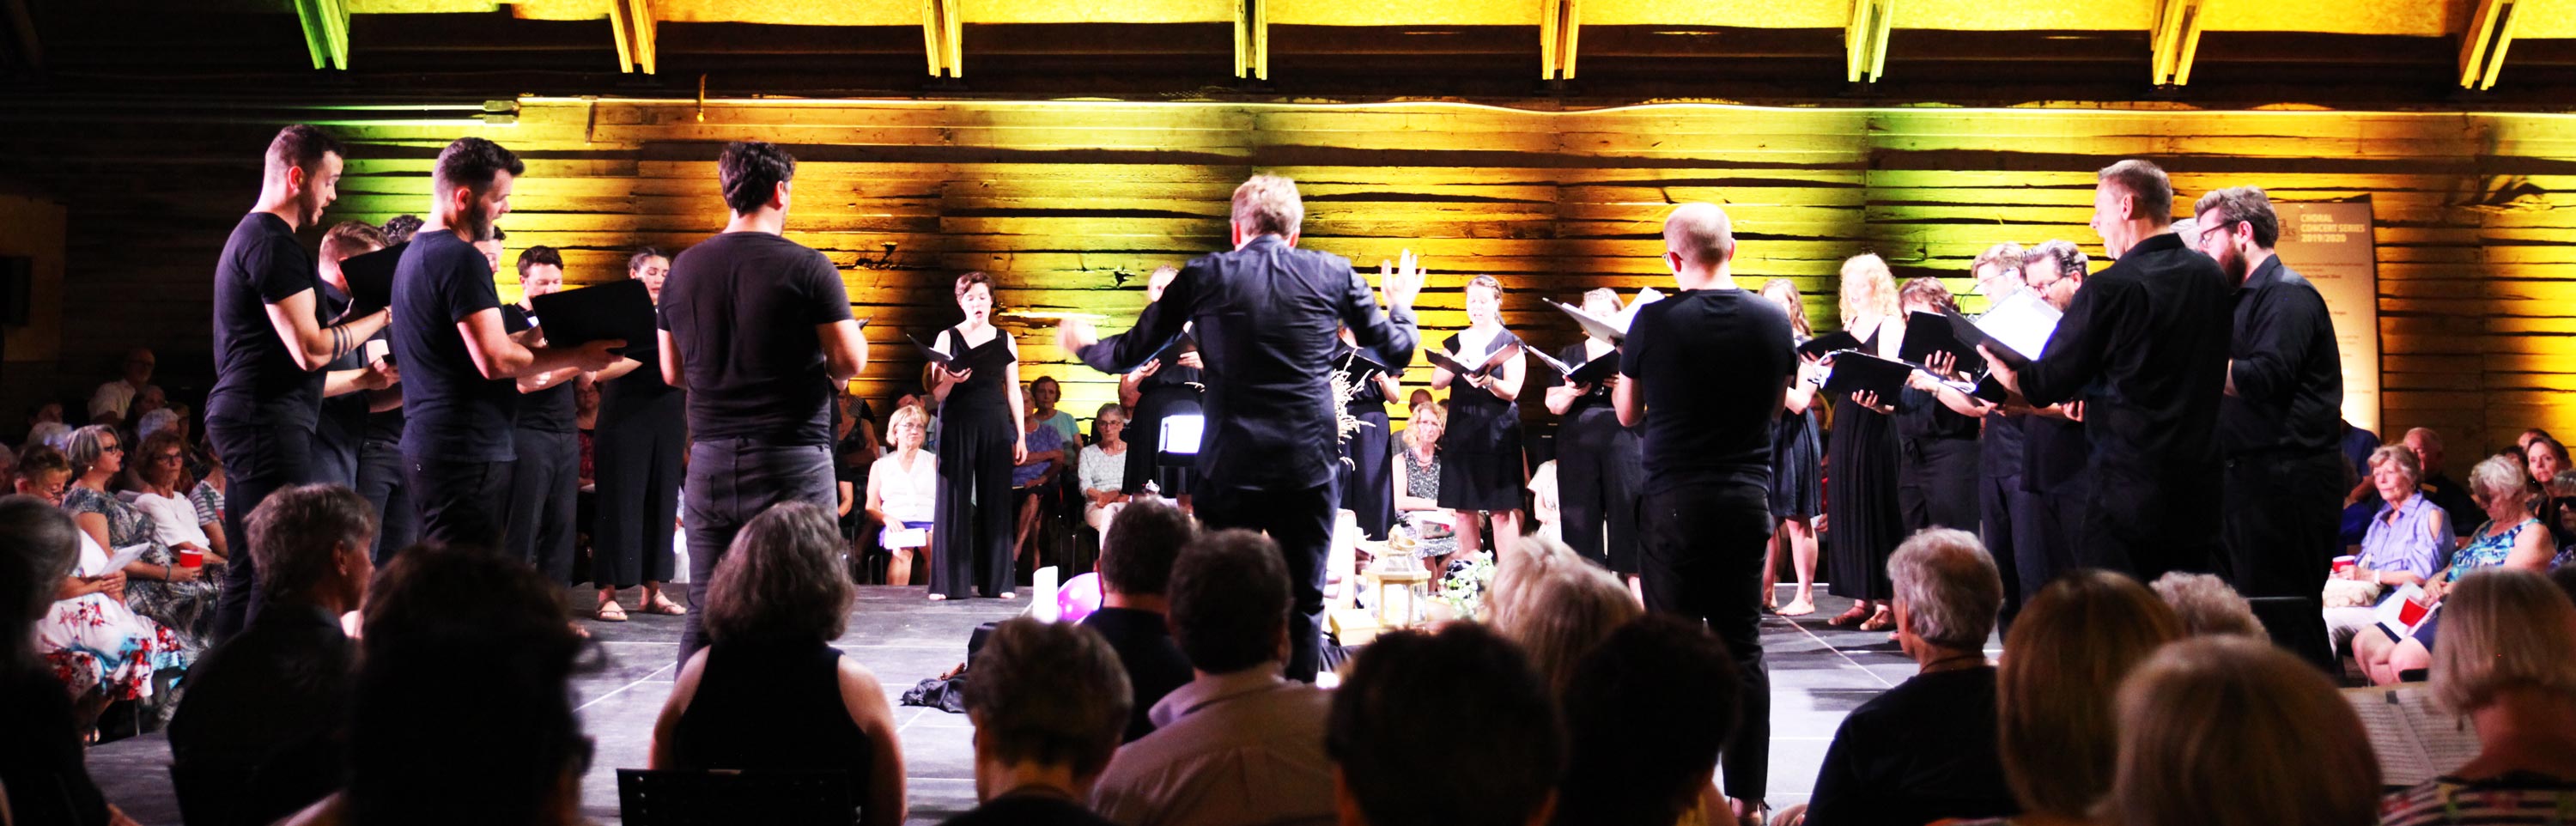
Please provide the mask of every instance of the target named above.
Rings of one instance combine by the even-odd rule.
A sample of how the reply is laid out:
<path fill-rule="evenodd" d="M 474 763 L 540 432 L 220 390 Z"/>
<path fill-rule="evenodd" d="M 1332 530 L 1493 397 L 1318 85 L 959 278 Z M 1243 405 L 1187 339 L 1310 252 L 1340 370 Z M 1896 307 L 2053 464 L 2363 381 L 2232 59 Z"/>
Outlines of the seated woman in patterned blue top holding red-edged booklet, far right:
<path fill-rule="evenodd" d="M 2468 535 L 2468 546 L 2452 553 L 2450 566 L 2424 576 L 2424 597 L 2442 600 L 2450 584 L 2478 569 L 2522 569 L 2543 574 L 2550 569 L 2550 530 L 2532 517 L 2524 497 L 2522 463 L 2509 455 L 2491 455 L 2468 471 L 2468 491 L 2486 507 L 2486 525 Z M 2393 597 L 2393 594 L 2391 594 Z M 2388 597 L 2383 597 L 2388 600 Z M 2362 664 L 2375 684 L 2393 684 L 2406 672 L 2432 666 L 2432 646 L 2442 630 L 2442 607 L 2414 628 L 2406 638 L 2385 628 L 2362 628 L 2352 636 L 2352 659 Z"/>

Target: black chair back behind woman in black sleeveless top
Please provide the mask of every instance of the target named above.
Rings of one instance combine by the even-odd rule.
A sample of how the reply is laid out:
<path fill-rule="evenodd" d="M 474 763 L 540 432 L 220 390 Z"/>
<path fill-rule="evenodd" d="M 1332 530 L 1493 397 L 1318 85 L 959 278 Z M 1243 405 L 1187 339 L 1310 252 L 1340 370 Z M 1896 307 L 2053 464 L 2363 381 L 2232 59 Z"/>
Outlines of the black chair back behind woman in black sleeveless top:
<path fill-rule="evenodd" d="M 618 769 L 626 826 L 858 823 L 850 772 L 840 769 Z"/>

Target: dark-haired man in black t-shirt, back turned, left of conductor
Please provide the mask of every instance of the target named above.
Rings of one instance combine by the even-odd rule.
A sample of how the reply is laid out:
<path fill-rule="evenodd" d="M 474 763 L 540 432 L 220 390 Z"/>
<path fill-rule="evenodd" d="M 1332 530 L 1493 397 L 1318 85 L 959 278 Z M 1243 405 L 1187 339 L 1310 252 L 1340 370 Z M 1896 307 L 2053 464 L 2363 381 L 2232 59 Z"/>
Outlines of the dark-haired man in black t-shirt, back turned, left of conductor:
<path fill-rule="evenodd" d="M 822 252 L 781 232 L 796 160 L 734 142 L 716 160 L 734 219 L 670 262 L 662 280 L 662 381 L 688 391 L 688 602 L 734 533 L 770 504 L 835 507 L 832 396 L 868 363 L 850 293 Z M 698 612 L 680 630 L 680 661 L 706 646 Z"/>

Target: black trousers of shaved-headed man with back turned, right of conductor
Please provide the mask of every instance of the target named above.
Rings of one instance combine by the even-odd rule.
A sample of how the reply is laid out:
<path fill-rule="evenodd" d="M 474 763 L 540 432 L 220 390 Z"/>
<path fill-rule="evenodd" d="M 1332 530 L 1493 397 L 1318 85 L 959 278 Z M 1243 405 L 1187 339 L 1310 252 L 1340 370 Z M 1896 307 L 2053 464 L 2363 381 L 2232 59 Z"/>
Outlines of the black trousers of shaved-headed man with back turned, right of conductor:
<path fill-rule="evenodd" d="M 1762 666 L 1762 551 L 1770 491 L 1759 484 L 1680 486 L 1646 494 L 1646 610 L 1705 620 L 1744 682 L 1741 718 L 1726 739 L 1728 798 L 1762 800 L 1770 785 L 1770 672 Z"/>

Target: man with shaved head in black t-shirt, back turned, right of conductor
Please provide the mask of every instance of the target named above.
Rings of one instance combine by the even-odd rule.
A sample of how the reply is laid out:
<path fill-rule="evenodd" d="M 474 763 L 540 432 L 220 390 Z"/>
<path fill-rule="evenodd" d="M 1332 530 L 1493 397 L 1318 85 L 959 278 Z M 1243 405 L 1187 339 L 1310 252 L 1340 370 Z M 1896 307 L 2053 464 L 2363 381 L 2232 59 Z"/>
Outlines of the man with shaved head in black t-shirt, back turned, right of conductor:
<path fill-rule="evenodd" d="M 1736 234 L 1716 203 L 1664 219 L 1680 296 L 1638 306 L 1613 391 L 1620 425 L 1643 422 L 1646 610 L 1708 620 L 1744 679 L 1723 757 L 1734 816 L 1770 782 L 1770 674 L 1762 669 L 1762 551 L 1770 543 L 1770 437 L 1798 376 L 1788 314 L 1736 288 Z"/>

